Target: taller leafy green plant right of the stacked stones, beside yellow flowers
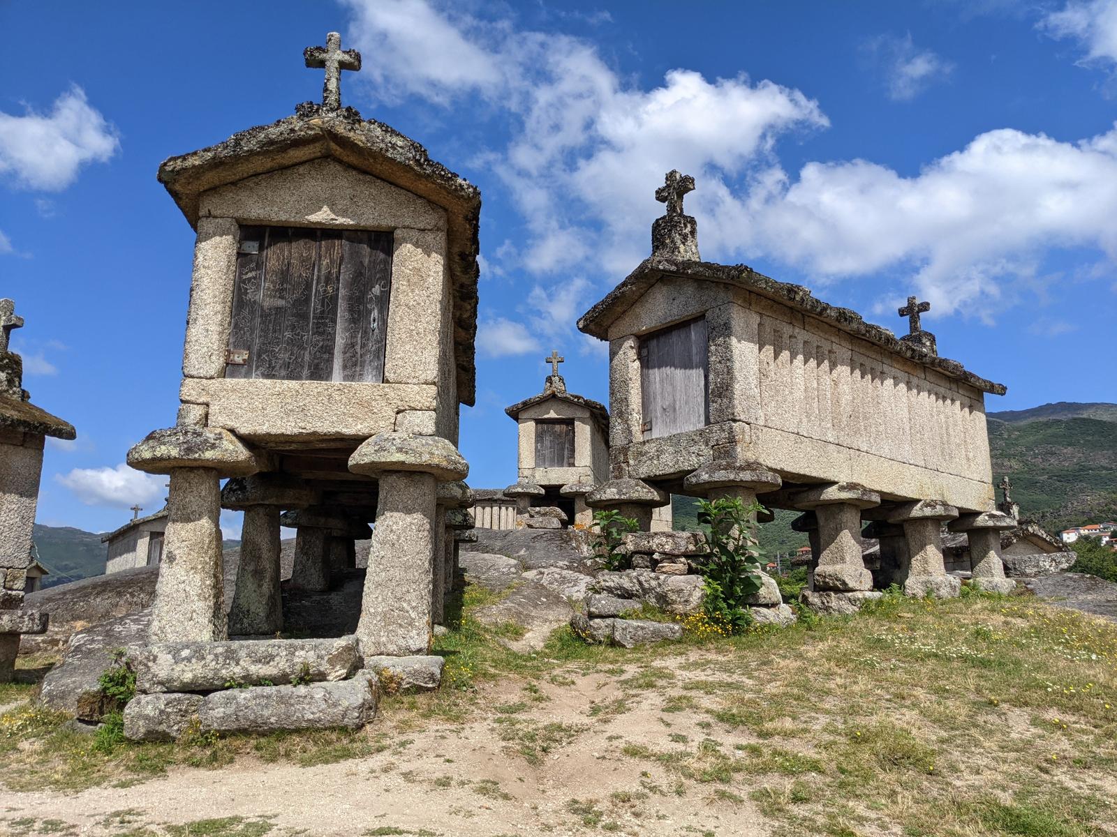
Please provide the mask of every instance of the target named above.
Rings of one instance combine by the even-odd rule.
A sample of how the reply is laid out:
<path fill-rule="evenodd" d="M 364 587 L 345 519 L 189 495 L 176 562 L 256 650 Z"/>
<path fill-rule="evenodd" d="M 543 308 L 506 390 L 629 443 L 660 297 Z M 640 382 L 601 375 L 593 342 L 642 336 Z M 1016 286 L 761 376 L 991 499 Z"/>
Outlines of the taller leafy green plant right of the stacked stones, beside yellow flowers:
<path fill-rule="evenodd" d="M 761 589 L 761 549 L 756 546 L 756 512 L 763 507 L 746 506 L 738 497 L 703 500 L 698 522 L 708 529 L 709 554 L 701 561 L 706 584 L 705 610 L 733 633 L 752 623 L 746 599 Z"/>

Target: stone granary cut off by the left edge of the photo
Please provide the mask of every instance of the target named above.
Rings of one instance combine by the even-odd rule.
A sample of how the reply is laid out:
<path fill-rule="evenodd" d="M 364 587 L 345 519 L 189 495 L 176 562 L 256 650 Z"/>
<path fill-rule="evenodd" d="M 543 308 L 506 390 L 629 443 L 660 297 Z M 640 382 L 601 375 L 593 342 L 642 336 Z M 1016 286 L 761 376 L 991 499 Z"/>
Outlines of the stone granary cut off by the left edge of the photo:
<path fill-rule="evenodd" d="M 12 329 L 22 325 L 16 304 L 0 299 L 0 683 L 12 677 L 20 634 L 47 629 L 46 614 L 23 609 L 36 565 L 31 531 L 42 449 L 47 436 L 77 437 L 71 424 L 31 404 L 23 388 L 23 360 L 8 347 Z"/>

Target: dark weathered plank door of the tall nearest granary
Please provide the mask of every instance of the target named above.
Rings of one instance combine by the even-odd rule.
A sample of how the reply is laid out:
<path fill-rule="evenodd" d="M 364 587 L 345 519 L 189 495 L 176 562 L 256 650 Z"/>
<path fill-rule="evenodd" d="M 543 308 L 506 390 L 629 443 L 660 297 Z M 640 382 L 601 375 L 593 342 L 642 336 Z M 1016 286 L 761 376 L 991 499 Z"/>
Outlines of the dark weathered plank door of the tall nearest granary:
<path fill-rule="evenodd" d="M 392 233 L 241 227 L 226 377 L 381 383 Z"/>

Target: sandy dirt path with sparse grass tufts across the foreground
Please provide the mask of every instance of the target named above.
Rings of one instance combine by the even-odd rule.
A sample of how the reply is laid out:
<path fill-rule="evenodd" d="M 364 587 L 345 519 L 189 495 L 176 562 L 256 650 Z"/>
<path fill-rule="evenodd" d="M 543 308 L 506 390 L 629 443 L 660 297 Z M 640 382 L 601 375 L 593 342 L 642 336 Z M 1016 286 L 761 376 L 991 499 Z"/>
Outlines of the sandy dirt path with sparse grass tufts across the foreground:
<path fill-rule="evenodd" d="M 672 670 L 663 675 L 672 691 L 686 677 L 710 676 Z M 561 685 L 544 683 L 542 694 L 518 682 L 491 686 L 480 701 L 486 710 L 464 724 L 401 729 L 413 715 L 389 708 L 373 730 L 391 730 L 388 747 L 367 758 L 309 768 L 245 760 L 219 770 L 175 769 L 124 788 L 6 792 L 0 834 L 154 837 L 164 833 L 160 826 L 233 816 L 260 828 L 266 818 L 271 835 L 324 837 L 768 833 L 752 804 L 739 801 L 747 788 L 738 787 L 733 801 L 709 786 L 684 790 L 665 768 L 622 752 L 627 744 L 663 748 L 709 734 L 697 725 L 700 716 L 662 714 L 665 690 L 633 689 L 615 670 L 565 671 L 555 680 Z M 722 739 L 727 747 L 735 740 Z"/>

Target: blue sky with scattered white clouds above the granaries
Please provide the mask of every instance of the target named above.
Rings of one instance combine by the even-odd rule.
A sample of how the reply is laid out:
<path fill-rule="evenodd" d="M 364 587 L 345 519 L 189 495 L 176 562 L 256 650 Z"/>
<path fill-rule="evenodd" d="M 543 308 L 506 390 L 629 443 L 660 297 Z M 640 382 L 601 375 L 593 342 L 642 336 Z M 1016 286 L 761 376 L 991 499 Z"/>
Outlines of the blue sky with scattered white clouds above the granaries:
<path fill-rule="evenodd" d="M 0 297 L 46 454 L 39 522 L 102 531 L 163 496 L 123 465 L 174 421 L 193 234 L 162 160 L 321 95 L 302 49 L 363 52 L 343 99 L 480 186 L 470 482 L 515 478 L 504 406 L 697 190 L 704 258 L 802 282 L 1009 385 L 987 408 L 1117 401 L 1117 0 L 0 2 Z M 34 45 L 34 48 L 29 48 Z M 228 522 L 235 521 L 230 518 Z"/>

